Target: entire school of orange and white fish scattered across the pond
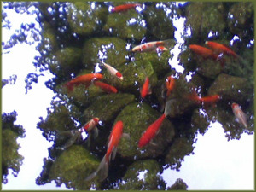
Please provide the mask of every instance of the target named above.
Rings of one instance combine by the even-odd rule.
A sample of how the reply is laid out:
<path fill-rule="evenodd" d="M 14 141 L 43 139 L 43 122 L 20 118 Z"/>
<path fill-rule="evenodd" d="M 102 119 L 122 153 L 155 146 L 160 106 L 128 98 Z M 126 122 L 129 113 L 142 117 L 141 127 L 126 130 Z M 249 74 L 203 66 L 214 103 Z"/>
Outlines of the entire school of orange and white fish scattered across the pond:
<path fill-rule="evenodd" d="M 129 9 L 136 9 L 137 7 L 142 7 L 142 4 L 140 3 L 128 3 L 124 5 L 119 5 L 116 7 L 113 7 L 110 12 L 111 13 L 122 13 L 125 11 L 128 11 Z M 201 56 L 203 59 L 212 59 L 214 61 L 220 61 L 221 65 L 224 65 L 224 61 L 221 58 L 220 55 L 231 55 L 234 58 L 239 58 L 240 56 L 237 55 L 233 50 L 231 50 L 229 47 L 225 46 L 224 44 L 218 44 L 217 42 L 212 41 L 206 41 L 205 43 L 208 47 L 203 47 L 198 44 L 190 44 L 189 49 L 192 50 L 192 52 L 195 53 L 195 55 Z M 168 50 L 166 47 L 166 41 L 153 41 L 148 42 L 144 44 L 139 44 L 137 46 L 134 46 L 133 49 L 131 49 L 131 52 L 133 53 L 142 53 L 142 52 L 162 52 Z M 108 73 L 113 75 L 116 79 L 119 79 L 120 81 L 124 80 L 124 77 L 122 73 L 120 73 L 116 68 L 112 67 L 110 64 L 107 64 L 105 62 L 101 63 L 102 68 L 106 68 Z M 101 81 L 103 80 L 103 81 Z M 164 82 L 164 97 L 167 98 L 172 94 L 172 91 L 175 90 L 177 79 L 169 76 L 166 78 L 166 82 Z M 76 86 L 79 84 L 84 84 L 84 89 L 87 89 L 89 86 L 96 86 L 105 91 L 108 94 L 115 94 L 118 92 L 118 90 L 113 87 L 113 85 L 105 83 L 104 77 L 101 73 L 89 73 L 80 75 L 76 78 L 71 79 L 65 86 L 67 87 L 67 90 L 69 93 L 71 93 Z M 146 77 L 144 80 L 144 83 L 141 86 L 140 90 L 140 96 L 142 99 L 145 99 L 148 95 L 150 95 L 152 92 L 151 90 L 151 84 L 149 77 Z M 189 95 L 184 96 L 187 100 L 191 102 L 195 102 L 197 104 L 215 104 L 216 102 L 221 100 L 221 96 L 219 95 L 211 95 L 211 96 L 199 96 L 198 93 L 196 93 L 195 90 Z M 154 122 L 148 126 L 148 128 L 143 132 L 142 136 L 140 137 L 137 146 L 138 148 L 144 148 L 148 144 L 153 144 L 152 141 L 154 140 L 154 137 L 157 135 L 157 133 L 160 131 L 160 127 L 163 124 L 163 121 L 166 119 L 170 111 L 172 110 L 171 103 L 173 100 L 165 101 L 165 111 L 160 117 Z M 247 128 L 247 117 L 246 114 L 241 110 L 241 107 L 233 102 L 231 104 L 232 111 L 238 120 L 238 122 L 243 125 L 245 128 Z M 100 119 L 93 118 L 90 119 L 82 128 L 80 128 L 77 131 L 72 131 L 72 137 L 70 140 L 61 148 L 67 148 L 71 146 L 73 143 L 78 141 L 81 132 L 85 131 L 88 133 L 88 138 L 90 143 L 90 135 L 91 132 L 95 132 L 95 137 L 98 135 L 98 130 L 96 128 L 96 125 L 99 124 Z M 115 154 L 117 152 L 117 148 L 120 142 L 121 137 L 125 135 L 124 131 L 124 125 L 122 121 L 118 121 L 113 125 L 113 129 L 110 132 L 110 135 L 108 137 L 108 145 L 107 145 L 107 152 L 102 158 L 102 161 L 95 172 L 91 173 L 90 176 L 86 177 L 85 181 L 90 181 L 92 178 L 99 176 L 100 180 L 106 179 L 108 177 L 108 167 L 110 164 L 110 161 L 114 159 Z"/>

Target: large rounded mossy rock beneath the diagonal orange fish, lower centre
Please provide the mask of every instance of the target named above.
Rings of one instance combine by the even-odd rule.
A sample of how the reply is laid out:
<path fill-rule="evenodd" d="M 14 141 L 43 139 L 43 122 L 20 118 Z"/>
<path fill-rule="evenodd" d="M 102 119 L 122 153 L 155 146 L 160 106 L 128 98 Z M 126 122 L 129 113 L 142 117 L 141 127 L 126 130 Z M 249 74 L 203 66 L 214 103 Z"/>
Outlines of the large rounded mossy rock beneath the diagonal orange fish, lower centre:
<path fill-rule="evenodd" d="M 131 103 L 126 106 L 115 119 L 115 122 L 122 120 L 124 123 L 123 132 L 130 134 L 130 139 L 122 138 L 119 143 L 119 154 L 127 159 L 142 159 L 156 157 L 163 154 L 166 146 L 172 142 L 174 127 L 169 119 L 165 119 L 160 127 L 159 133 L 152 140 L 154 144 L 148 144 L 139 149 L 138 141 L 149 125 L 160 117 L 160 113 L 151 108 L 147 103 Z"/>

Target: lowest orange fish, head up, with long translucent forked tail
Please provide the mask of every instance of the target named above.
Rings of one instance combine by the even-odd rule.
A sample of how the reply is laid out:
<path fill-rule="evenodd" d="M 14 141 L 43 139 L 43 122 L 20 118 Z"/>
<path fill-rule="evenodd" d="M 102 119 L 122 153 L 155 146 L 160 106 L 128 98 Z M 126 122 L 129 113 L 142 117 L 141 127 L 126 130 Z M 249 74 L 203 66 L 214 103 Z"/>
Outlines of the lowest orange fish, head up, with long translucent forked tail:
<path fill-rule="evenodd" d="M 118 121 L 114 126 L 113 130 L 110 133 L 110 136 L 108 137 L 108 149 L 107 153 L 103 157 L 100 166 L 97 168 L 96 172 L 93 172 L 90 174 L 90 176 L 85 178 L 85 181 L 89 181 L 93 177 L 96 177 L 96 175 L 99 172 L 100 180 L 103 181 L 106 177 L 108 177 L 108 166 L 110 159 L 112 157 L 112 160 L 115 157 L 116 149 L 119 145 L 120 138 L 123 134 L 123 122 Z"/>

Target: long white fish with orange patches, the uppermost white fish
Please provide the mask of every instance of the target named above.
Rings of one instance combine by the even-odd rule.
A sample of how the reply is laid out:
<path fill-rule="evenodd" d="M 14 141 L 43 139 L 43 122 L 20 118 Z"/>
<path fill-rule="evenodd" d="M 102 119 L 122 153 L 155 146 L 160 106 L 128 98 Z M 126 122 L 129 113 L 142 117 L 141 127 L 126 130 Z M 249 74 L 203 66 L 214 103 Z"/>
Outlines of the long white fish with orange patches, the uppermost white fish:
<path fill-rule="evenodd" d="M 153 42 L 148 42 L 145 44 L 140 44 L 135 46 L 133 49 L 131 49 L 132 52 L 148 52 L 148 51 L 154 51 L 157 50 L 157 48 L 162 49 L 162 50 L 167 50 L 164 45 L 165 41 L 153 41 Z"/>

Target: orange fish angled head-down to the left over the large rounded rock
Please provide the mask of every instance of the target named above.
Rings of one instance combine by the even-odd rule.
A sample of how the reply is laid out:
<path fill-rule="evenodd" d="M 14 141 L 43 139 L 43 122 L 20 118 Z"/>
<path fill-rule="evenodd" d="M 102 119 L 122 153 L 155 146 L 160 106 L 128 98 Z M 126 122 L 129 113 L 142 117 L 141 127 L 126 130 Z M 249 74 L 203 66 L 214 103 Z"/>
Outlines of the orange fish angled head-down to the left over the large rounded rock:
<path fill-rule="evenodd" d="M 165 113 L 163 113 L 158 119 L 154 121 L 151 125 L 148 126 L 147 130 L 143 132 L 143 136 L 140 138 L 138 142 L 138 147 L 143 148 L 144 146 L 148 145 L 155 137 L 155 135 L 160 130 L 160 126 L 162 125 L 164 119 L 171 111 L 171 102 L 174 100 L 169 100 L 166 102 Z"/>

